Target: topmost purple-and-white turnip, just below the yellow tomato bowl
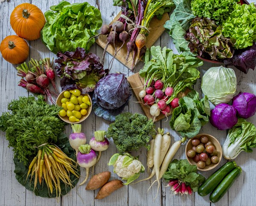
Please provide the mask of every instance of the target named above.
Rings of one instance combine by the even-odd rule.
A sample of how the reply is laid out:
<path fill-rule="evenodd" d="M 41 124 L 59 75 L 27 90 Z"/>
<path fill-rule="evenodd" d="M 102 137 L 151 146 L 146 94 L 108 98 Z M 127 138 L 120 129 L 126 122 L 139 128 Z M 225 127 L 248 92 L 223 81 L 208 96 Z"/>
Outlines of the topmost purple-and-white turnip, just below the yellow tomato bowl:
<path fill-rule="evenodd" d="M 79 152 L 79 147 L 86 143 L 86 135 L 81 132 L 81 124 L 71 124 L 73 133 L 69 136 L 70 146 L 76 150 L 76 155 Z"/>

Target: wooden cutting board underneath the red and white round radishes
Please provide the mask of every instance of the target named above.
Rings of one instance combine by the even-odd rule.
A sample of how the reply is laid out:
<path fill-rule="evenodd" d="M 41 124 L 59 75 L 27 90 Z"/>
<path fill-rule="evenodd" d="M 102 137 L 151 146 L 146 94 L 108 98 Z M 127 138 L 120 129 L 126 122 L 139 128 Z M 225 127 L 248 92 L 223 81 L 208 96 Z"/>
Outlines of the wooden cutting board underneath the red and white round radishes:
<path fill-rule="evenodd" d="M 144 78 L 141 78 L 139 73 L 135 73 L 134 75 L 128 76 L 127 80 L 129 82 L 131 90 L 133 91 L 134 96 L 138 100 L 140 107 L 142 108 L 145 116 L 148 119 L 153 119 L 153 117 L 150 114 L 150 106 L 144 105 L 142 102 L 142 99 L 139 97 L 140 91 L 144 89 L 144 87 L 143 87 L 143 85 L 145 84 Z M 190 92 L 190 90 L 187 88 L 184 92 L 178 93 L 177 98 L 182 98 L 183 96 L 186 96 L 189 92 Z M 136 103 L 134 103 L 134 104 L 136 104 Z M 170 115 L 172 114 L 172 111 L 173 111 L 173 109 L 171 110 Z M 166 118 L 166 116 L 164 116 L 162 113 L 160 113 L 160 115 L 157 116 L 154 119 L 154 121 L 158 121 L 158 120 L 164 119 L 164 118 Z M 167 118 L 168 118 L 168 116 L 167 116 Z"/>

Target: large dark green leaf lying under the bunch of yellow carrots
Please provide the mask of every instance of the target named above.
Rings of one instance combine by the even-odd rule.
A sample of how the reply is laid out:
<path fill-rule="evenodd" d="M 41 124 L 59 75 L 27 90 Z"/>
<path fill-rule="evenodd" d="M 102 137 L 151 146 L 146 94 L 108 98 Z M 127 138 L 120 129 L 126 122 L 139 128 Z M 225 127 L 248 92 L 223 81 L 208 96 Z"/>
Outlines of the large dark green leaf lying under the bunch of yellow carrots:
<path fill-rule="evenodd" d="M 76 161 L 76 156 L 74 154 L 73 148 L 70 146 L 69 140 L 67 138 L 67 135 L 64 133 L 61 133 L 58 135 L 56 145 L 61 148 L 61 150 L 70 158 Z M 30 158 L 32 159 L 32 158 Z M 43 181 L 43 184 L 37 184 L 36 189 L 34 190 L 34 181 L 35 177 L 32 178 L 32 182 L 30 182 L 31 175 L 29 175 L 28 180 L 26 181 L 26 174 L 28 172 L 28 166 L 26 166 L 23 162 L 20 162 L 17 157 L 13 159 L 15 164 L 15 177 L 17 181 L 22 184 L 26 189 L 31 190 L 35 193 L 35 195 L 43 197 L 43 198 L 55 198 L 56 197 L 56 189 L 53 190 L 52 195 L 49 193 L 47 185 L 45 181 Z M 78 174 L 80 174 L 79 168 L 77 169 Z M 79 181 L 79 178 L 77 178 L 75 175 L 70 173 L 70 180 L 72 182 L 72 187 L 65 186 L 65 184 L 61 181 L 61 196 L 66 195 L 70 189 L 72 189 L 74 186 L 76 186 L 76 183 Z"/>

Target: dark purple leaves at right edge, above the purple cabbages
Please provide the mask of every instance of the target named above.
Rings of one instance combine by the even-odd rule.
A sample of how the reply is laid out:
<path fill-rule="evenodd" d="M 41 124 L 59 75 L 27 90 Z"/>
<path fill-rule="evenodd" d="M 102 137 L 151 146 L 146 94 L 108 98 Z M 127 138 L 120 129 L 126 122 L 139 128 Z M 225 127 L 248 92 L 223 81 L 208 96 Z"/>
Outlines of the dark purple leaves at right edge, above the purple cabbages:
<path fill-rule="evenodd" d="M 256 67 L 256 42 L 246 49 L 236 50 L 230 59 L 224 60 L 225 65 L 233 65 L 240 71 L 247 73 Z"/>

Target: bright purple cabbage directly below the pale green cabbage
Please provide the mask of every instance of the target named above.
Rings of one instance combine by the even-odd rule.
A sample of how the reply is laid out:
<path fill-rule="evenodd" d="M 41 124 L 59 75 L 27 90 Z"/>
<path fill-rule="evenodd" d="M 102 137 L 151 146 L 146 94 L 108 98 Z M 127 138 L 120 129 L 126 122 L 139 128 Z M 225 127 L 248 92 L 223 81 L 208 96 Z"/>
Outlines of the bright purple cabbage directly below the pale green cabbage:
<path fill-rule="evenodd" d="M 218 104 L 211 110 L 210 122 L 219 130 L 227 130 L 235 126 L 238 119 L 235 107 L 229 104 Z"/>

